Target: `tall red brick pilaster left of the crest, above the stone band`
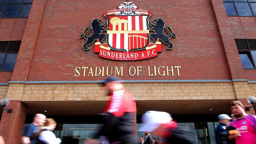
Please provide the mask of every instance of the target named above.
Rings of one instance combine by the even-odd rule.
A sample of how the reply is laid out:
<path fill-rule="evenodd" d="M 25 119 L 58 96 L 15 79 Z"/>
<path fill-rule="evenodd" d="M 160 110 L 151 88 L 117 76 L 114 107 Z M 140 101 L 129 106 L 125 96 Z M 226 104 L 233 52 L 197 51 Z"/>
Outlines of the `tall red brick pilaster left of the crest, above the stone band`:
<path fill-rule="evenodd" d="M 46 0 L 34 0 L 24 30 L 11 81 L 26 81 Z"/>

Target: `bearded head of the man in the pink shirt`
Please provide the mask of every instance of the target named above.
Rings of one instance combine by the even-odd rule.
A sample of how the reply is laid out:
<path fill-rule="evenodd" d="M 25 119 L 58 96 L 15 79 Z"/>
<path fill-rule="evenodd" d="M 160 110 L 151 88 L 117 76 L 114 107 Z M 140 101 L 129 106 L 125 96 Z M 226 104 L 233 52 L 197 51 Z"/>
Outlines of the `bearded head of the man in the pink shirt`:
<path fill-rule="evenodd" d="M 229 106 L 230 106 L 231 112 L 234 114 L 236 118 L 239 118 L 245 115 L 244 106 L 241 102 L 234 100 L 229 103 Z"/>

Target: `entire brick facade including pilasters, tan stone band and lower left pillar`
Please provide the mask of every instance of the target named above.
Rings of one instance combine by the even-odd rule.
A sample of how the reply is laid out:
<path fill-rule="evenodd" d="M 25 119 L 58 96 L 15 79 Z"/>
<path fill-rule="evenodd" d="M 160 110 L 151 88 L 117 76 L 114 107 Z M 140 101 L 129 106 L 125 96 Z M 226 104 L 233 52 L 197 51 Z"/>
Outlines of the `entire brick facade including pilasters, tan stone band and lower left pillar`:
<path fill-rule="evenodd" d="M 27 109 L 22 101 L 108 100 L 98 83 L 20 83 L 106 78 L 75 77 L 76 67 L 123 66 L 123 80 L 220 80 L 124 83 L 137 101 L 238 99 L 251 106 L 246 98 L 256 96 L 256 72 L 243 70 L 234 39 L 256 39 L 256 17 L 228 17 L 222 0 L 133 2 L 153 13 L 151 22 L 162 18 L 172 27 L 177 34 L 170 39 L 172 50 L 162 43 L 163 51 L 157 57 L 141 61 L 100 58 L 93 44 L 91 50 L 83 50 L 85 40 L 78 39 L 83 29 L 96 18 L 105 22 L 103 13 L 117 8 L 120 0 L 34 0 L 28 18 L 0 19 L 0 41 L 22 40 L 14 71 L 0 72 L 0 84 L 12 81 L 9 86 L 0 85 L 0 98 L 8 98 L 8 108 L 13 108 L 12 114 L 3 113 L 0 122 L 7 143 L 19 143 Z M 129 75 L 131 66 L 142 67 L 140 76 Z M 180 76 L 148 76 L 147 66 L 181 66 Z M 253 110 L 248 113 L 255 115 Z M 132 117 L 136 120 L 136 114 Z"/>

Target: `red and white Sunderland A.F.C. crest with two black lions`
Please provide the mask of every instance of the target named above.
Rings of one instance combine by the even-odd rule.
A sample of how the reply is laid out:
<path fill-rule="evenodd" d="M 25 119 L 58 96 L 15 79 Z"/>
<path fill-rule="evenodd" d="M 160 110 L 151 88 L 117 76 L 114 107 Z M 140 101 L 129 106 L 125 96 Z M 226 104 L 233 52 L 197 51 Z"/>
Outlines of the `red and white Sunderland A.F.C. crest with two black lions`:
<path fill-rule="evenodd" d="M 151 23 L 148 20 L 151 15 L 151 12 L 137 8 L 129 0 L 123 2 L 118 9 L 104 13 L 108 19 L 104 24 L 103 20 L 94 19 L 91 26 L 83 30 L 80 39 L 86 39 L 84 50 L 90 50 L 88 46 L 96 40 L 94 52 L 100 57 L 126 61 L 156 57 L 162 52 L 160 40 L 168 45 L 166 49 L 172 49 L 173 43 L 169 39 L 176 37 L 176 34 L 170 26 L 165 26 L 163 19 L 157 18 Z M 92 35 L 88 36 L 91 29 Z M 164 29 L 168 36 L 163 33 Z M 106 42 L 103 41 L 105 37 Z"/>

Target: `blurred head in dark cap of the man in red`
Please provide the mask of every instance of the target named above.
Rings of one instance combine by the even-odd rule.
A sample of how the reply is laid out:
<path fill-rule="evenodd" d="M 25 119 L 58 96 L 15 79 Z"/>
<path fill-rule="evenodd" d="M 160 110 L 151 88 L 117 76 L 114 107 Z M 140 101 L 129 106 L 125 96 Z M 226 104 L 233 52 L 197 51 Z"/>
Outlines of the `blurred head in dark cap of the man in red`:
<path fill-rule="evenodd" d="M 103 81 L 103 86 L 109 93 L 112 93 L 116 90 L 121 90 L 124 88 L 124 85 L 121 83 L 118 77 L 108 77 L 105 81 Z"/>

